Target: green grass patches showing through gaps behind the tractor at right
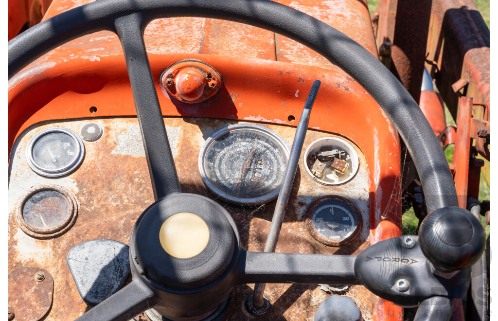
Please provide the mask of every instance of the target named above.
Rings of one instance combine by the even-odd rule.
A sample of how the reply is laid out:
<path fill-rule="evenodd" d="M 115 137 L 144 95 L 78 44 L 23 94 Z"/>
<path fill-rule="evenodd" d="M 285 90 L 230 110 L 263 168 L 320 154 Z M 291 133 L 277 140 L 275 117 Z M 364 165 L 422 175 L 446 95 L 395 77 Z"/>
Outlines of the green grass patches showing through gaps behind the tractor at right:
<path fill-rule="evenodd" d="M 377 7 L 379 0 L 367 0 L 370 15 L 372 15 L 373 11 Z M 481 11 L 481 15 L 483 16 L 484 21 L 490 27 L 490 0 L 475 0 L 479 11 Z M 448 108 L 445 106 L 445 114 L 446 114 L 446 123 L 448 126 L 455 126 L 455 120 L 451 116 Z M 445 149 L 446 159 L 449 164 L 453 161 L 453 151 L 454 145 L 449 145 Z M 481 184 L 479 187 L 479 201 L 489 200 L 490 199 L 490 187 L 487 184 L 484 176 L 481 174 Z M 490 226 L 486 225 L 486 219 L 484 216 L 481 216 L 481 222 L 484 226 L 486 226 L 486 234 L 489 237 L 490 234 Z M 415 216 L 413 208 L 407 210 L 402 216 L 402 233 L 403 234 L 413 234 L 418 226 L 418 218 Z"/>

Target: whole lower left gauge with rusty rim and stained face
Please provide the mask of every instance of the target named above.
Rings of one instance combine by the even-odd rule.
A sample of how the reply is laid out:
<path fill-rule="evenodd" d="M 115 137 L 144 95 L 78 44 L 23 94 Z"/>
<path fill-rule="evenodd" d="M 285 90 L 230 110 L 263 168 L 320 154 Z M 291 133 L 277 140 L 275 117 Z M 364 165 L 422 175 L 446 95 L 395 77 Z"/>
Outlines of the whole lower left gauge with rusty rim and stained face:
<path fill-rule="evenodd" d="M 48 238 L 71 228 L 77 212 L 76 199 L 68 190 L 57 185 L 42 185 L 24 194 L 15 219 L 26 234 Z"/>

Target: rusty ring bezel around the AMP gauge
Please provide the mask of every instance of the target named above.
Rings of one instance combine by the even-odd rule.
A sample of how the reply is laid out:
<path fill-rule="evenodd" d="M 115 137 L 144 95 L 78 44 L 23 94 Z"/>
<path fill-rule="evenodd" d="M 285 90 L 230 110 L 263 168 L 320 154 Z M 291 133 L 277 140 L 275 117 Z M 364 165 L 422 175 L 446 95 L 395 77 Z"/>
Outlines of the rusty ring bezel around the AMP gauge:
<path fill-rule="evenodd" d="M 323 236 L 322 234 L 320 234 L 313 226 L 313 212 L 314 212 L 315 208 L 318 205 L 320 205 L 321 203 L 323 203 L 325 201 L 330 201 L 330 200 L 339 201 L 339 202 L 346 204 L 348 207 L 351 208 L 352 214 L 355 215 L 355 219 L 356 219 L 355 229 L 353 230 L 353 232 L 349 236 L 347 236 L 346 238 L 341 239 L 341 240 L 334 240 L 334 239 L 327 238 L 327 237 Z M 313 238 L 315 238 L 317 241 L 319 241 L 320 243 L 323 243 L 325 245 L 342 246 L 342 245 L 346 245 L 348 243 L 351 243 L 352 241 L 354 241 L 358 237 L 358 235 L 360 235 L 360 232 L 362 230 L 362 226 L 363 226 L 363 218 L 362 218 L 360 210 L 358 209 L 356 204 L 353 203 L 351 200 L 349 200 L 343 196 L 340 196 L 340 195 L 322 196 L 322 197 L 316 199 L 315 201 L 313 201 L 313 203 L 311 203 L 311 205 L 306 210 L 306 228 L 308 229 L 308 232 L 311 234 L 311 236 L 313 236 Z"/>

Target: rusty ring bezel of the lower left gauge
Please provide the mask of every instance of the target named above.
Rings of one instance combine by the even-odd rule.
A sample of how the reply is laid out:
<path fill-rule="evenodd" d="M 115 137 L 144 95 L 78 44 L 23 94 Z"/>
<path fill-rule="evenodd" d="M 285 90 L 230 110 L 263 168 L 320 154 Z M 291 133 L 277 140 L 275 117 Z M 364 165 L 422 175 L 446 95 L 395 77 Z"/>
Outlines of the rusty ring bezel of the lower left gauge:
<path fill-rule="evenodd" d="M 69 203 L 68 215 L 66 216 L 64 221 L 50 229 L 41 229 L 31 226 L 24 220 L 23 216 L 24 205 L 26 204 L 26 202 L 36 193 L 43 191 L 59 192 L 66 198 L 67 202 Z M 36 238 L 52 238 L 64 234 L 74 225 L 77 216 L 78 202 L 76 201 L 74 195 L 62 186 L 51 184 L 35 186 L 34 188 L 24 193 L 15 209 L 15 220 L 17 222 L 17 225 L 19 225 L 24 233 Z"/>

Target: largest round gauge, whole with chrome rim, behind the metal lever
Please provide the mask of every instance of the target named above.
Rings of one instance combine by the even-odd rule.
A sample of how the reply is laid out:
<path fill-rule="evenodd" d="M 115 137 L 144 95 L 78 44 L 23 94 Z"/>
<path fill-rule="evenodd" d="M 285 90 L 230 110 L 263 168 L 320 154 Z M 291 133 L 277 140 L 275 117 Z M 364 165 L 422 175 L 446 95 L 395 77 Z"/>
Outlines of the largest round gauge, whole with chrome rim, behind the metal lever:
<path fill-rule="evenodd" d="M 258 205 L 278 196 L 289 154 L 289 145 L 274 131 L 236 124 L 206 141 L 199 170 L 207 188 L 223 200 Z"/>

